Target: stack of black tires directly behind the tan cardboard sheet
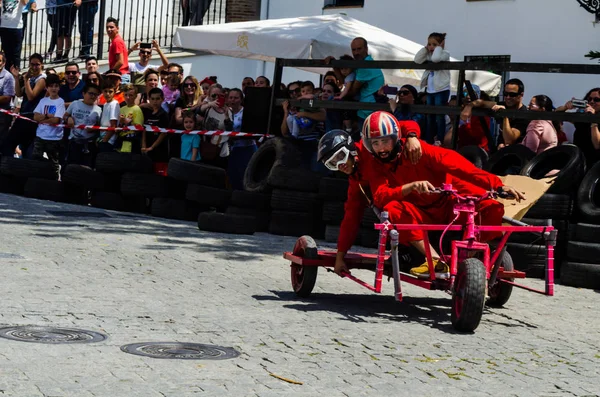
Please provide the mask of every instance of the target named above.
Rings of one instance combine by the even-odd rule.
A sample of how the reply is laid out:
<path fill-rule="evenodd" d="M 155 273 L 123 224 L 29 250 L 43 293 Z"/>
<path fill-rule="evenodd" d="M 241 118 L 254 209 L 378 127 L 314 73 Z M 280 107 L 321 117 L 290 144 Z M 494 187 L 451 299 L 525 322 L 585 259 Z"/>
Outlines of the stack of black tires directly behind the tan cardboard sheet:
<path fill-rule="evenodd" d="M 522 146 L 522 145 L 514 145 Z M 520 149 L 521 158 L 527 152 Z M 581 182 L 585 171 L 585 159 L 574 145 L 561 145 L 546 150 L 527 162 L 520 174 L 541 179 L 549 174 L 554 183 L 526 214 L 523 222 L 533 226 L 552 225 L 558 230 L 554 249 L 554 268 L 560 275 L 569 240 L 569 221 L 573 216 L 575 197 L 573 192 Z M 545 277 L 546 248 L 544 239 L 535 234 L 515 233 L 509 240 L 507 251 L 517 270 L 527 272 L 528 277 Z"/>

